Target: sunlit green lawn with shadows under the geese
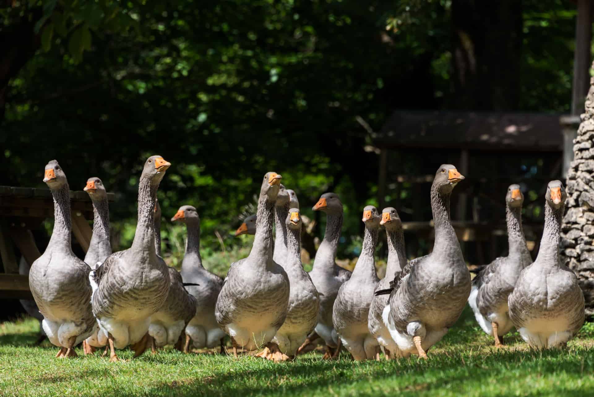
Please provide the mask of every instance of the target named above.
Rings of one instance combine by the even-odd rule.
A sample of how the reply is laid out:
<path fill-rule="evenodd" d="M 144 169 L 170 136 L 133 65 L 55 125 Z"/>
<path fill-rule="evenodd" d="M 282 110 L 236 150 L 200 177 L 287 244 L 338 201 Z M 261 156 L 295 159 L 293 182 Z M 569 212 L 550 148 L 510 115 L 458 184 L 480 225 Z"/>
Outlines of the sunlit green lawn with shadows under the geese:
<path fill-rule="evenodd" d="M 429 360 L 355 363 L 321 360 L 311 352 L 292 363 L 255 357 L 145 353 L 121 363 L 96 356 L 59 360 L 57 348 L 32 347 L 38 323 L 23 319 L 0 324 L 0 395 L 307 395 L 307 396 L 561 396 L 594 395 L 594 326 L 587 323 L 567 350 L 533 351 L 519 335 L 491 347 L 467 308 Z"/>

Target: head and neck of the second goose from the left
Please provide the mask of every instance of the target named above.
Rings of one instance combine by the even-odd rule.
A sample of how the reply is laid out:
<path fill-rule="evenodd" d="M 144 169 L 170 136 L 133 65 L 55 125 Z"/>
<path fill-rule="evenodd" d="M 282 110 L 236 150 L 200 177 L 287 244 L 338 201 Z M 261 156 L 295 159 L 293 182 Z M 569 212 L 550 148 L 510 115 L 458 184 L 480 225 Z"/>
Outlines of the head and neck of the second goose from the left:
<path fill-rule="evenodd" d="M 87 180 L 84 191 L 89 193 L 93 203 L 93 236 L 84 262 L 96 269 L 112 253 L 109 240 L 109 203 L 108 192 L 101 179 L 91 177 Z"/>

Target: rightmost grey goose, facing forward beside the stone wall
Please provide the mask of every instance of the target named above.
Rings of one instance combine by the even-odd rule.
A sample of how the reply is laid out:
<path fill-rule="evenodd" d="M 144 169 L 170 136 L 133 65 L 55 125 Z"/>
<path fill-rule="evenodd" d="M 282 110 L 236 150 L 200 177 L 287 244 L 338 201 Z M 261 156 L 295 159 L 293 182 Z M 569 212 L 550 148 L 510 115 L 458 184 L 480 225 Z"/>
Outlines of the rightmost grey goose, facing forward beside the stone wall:
<path fill-rule="evenodd" d="M 520 272 L 508 299 L 511 322 L 533 348 L 567 345 L 584 323 L 584 294 L 574 272 L 559 258 L 566 198 L 560 180 L 548 183 L 538 256 Z"/>

